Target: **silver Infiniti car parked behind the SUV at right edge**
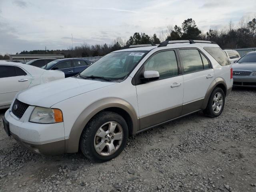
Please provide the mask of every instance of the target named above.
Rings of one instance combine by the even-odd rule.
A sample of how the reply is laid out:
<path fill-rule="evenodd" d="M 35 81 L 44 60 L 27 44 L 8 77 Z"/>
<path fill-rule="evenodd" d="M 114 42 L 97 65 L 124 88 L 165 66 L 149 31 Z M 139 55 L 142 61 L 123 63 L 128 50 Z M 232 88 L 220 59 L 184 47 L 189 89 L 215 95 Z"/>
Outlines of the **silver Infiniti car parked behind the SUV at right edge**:
<path fill-rule="evenodd" d="M 256 51 L 246 53 L 233 68 L 233 86 L 256 87 Z"/>

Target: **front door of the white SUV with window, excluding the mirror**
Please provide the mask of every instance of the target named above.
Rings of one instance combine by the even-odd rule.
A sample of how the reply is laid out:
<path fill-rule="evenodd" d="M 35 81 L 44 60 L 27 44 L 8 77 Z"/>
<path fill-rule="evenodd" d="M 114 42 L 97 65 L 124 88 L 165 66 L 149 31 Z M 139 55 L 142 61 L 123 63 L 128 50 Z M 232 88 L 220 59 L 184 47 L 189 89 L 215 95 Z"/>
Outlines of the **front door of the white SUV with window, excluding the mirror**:
<path fill-rule="evenodd" d="M 158 71 L 158 80 L 143 83 L 138 80 L 140 129 L 168 121 L 180 116 L 183 102 L 183 77 L 179 70 L 176 50 L 162 50 L 152 55 L 136 74 L 144 71 Z"/>

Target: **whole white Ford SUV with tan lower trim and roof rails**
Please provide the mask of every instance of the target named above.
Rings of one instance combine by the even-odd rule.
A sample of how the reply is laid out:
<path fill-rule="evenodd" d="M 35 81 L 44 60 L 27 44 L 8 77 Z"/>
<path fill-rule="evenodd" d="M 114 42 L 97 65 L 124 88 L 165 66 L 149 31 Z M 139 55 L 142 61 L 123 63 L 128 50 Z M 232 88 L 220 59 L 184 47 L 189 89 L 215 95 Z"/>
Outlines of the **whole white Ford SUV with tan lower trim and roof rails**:
<path fill-rule="evenodd" d="M 128 136 L 203 110 L 222 113 L 232 68 L 214 42 L 165 41 L 114 51 L 78 75 L 20 92 L 4 129 L 40 154 L 110 160 Z"/>

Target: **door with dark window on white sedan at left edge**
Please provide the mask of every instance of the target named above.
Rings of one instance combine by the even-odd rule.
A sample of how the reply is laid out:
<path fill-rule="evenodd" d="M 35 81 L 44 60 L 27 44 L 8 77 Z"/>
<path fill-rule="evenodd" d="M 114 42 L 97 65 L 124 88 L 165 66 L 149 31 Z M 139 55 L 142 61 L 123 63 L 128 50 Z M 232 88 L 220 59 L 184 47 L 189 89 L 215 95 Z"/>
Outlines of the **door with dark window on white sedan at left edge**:
<path fill-rule="evenodd" d="M 19 91 L 28 88 L 31 79 L 20 67 L 0 65 L 0 107 L 10 105 Z"/>

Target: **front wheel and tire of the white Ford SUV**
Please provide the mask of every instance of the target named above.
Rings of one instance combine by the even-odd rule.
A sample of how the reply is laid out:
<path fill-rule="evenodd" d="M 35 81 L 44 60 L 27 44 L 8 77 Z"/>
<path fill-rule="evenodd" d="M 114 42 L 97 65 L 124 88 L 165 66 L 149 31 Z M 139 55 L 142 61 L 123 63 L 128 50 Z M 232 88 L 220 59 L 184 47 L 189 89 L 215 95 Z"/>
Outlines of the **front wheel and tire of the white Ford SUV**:
<path fill-rule="evenodd" d="M 104 162 L 118 156 L 128 139 L 128 126 L 122 116 L 110 111 L 96 114 L 85 126 L 80 149 L 89 160 Z"/>

